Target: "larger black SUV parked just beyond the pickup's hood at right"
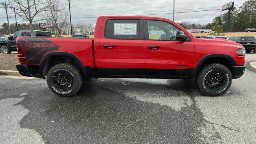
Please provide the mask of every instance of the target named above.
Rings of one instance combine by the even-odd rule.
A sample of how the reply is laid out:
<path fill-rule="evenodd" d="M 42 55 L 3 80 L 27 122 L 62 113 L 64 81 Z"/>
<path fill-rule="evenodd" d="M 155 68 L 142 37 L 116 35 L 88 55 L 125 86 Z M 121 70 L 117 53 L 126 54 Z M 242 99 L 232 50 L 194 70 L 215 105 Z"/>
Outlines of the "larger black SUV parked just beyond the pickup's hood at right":
<path fill-rule="evenodd" d="M 230 36 L 228 39 L 242 44 L 247 53 L 252 52 L 256 47 L 255 38 L 253 36 Z"/>

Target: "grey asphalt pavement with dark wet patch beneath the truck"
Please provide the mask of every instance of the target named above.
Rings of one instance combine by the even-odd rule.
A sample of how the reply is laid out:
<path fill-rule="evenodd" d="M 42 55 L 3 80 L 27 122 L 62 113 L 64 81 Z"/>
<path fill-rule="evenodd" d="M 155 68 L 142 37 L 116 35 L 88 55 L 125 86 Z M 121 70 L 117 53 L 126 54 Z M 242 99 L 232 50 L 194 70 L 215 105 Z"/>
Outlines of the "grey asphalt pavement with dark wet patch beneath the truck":
<path fill-rule="evenodd" d="M 99 78 L 61 98 L 45 80 L 0 76 L 0 144 L 253 144 L 254 61 L 218 97 L 188 80 Z"/>

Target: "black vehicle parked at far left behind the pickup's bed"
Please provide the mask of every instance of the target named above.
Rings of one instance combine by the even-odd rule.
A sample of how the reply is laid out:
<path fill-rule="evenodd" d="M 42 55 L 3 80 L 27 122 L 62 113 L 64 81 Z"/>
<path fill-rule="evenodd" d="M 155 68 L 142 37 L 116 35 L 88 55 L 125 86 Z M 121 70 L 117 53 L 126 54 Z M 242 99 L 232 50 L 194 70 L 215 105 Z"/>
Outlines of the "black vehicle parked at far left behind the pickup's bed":
<path fill-rule="evenodd" d="M 34 36 L 52 36 L 48 31 L 42 30 L 33 30 Z M 20 30 L 14 32 L 14 34 L 10 34 L 10 37 L 0 38 L 0 53 L 2 54 L 10 54 L 12 51 L 17 51 L 16 49 L 16 38 L 19 36 L 31 36 L 30 30 Z"/>

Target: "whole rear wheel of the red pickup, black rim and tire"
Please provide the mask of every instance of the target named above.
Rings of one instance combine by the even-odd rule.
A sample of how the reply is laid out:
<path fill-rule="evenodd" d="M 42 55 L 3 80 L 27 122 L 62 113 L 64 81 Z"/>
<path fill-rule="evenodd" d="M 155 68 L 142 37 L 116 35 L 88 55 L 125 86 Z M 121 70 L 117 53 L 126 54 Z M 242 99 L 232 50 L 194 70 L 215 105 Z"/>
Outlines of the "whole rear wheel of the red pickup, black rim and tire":
<path fill-rule="evenodd" d="M 59 96 L 72 96 L 82 86 L 82 75 L 72 64 L 62 63 L 53 66 L 47 74 L 47 85 Z"/>

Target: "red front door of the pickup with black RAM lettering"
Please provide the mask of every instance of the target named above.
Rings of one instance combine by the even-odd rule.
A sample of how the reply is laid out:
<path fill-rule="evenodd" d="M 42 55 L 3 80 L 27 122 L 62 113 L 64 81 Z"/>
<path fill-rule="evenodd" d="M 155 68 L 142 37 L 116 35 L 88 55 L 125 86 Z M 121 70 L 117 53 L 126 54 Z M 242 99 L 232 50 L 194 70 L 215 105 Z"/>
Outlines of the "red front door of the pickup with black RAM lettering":
<path fill-rule="evenodd" d="M 166 21 L 144 20 L 147 76 L 190 76 L 194 42 L 176 40 L 176 26 Z"/>

